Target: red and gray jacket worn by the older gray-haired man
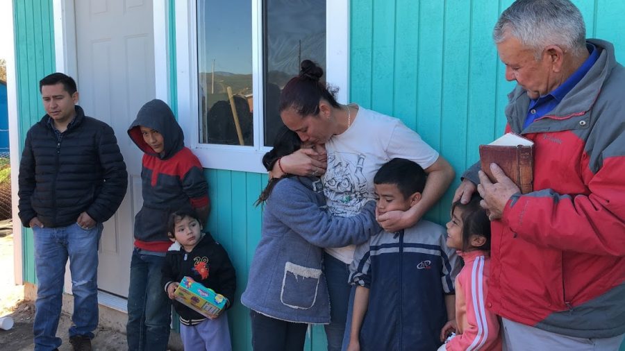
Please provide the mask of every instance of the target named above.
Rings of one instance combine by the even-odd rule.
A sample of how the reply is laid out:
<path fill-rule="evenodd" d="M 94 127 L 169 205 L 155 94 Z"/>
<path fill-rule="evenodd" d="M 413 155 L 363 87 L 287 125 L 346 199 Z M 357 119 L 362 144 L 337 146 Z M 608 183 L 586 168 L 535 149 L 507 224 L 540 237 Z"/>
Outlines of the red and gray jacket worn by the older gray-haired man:
<path fill-rule="evenodd" d="M 487 308 L 581 338 L 625 333 L 625 69 L 609 42 L 558 106 L 522 130 L 529 98 L 508 95 L 506 132 L 533 140 L 534 191 L 492 223 Z M 479 165 L 465 173 L 478 182 Z"/>

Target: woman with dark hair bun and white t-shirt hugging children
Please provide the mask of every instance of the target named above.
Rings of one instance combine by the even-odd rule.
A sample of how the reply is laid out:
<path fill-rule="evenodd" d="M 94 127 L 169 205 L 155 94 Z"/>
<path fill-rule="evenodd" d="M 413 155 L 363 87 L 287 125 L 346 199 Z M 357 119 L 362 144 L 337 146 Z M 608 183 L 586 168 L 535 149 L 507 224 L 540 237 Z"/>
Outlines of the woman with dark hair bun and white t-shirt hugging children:
<path fill-rule="evenodd" d="M 387 232 L 417 223 L 447 190 L 454 172 L 449 163 L 399 119 L 368 110 L 355 103 L 340 104 L 335 91 L 322 83 L 324 71 L 310 60 L 301 62 L 299 76 L 282 90 L 280 116 L 302 142 L 325 145 L 324 152 L 301 149 L 281 157 L 272 169 L 299 176 L 322 176 L 328 207 L 336 216 L 353 216 L 375 198 L 373 178 L 395 157 L 412 160 L 428 173 L 422 200 L 406 212 L 387 212 L 376 219 Z M 326 325 L 328 350 L 341 350 L 351 305 L 349 264 L 355 246 L 326 248 L 324 272 L 328 280 L 331 323 Z M 347 329 L 349 332 L 349 329 Z M 349 341 L 345 339 L 345 341 Z"/>

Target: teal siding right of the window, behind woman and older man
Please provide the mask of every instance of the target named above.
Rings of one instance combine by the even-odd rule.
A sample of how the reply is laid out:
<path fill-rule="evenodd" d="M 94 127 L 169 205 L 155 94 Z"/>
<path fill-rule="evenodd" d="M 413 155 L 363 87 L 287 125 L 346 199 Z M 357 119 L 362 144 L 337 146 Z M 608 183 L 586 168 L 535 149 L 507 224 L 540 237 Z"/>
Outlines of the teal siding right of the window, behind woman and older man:
<path fill-rule="evenodd" d="M 612 41 L 625 58 L 625 3 L 573 1 L 587 37 Z M 444 223 L 460 174 L 506 119 L 503 65 L 492 27 L 512 1 L 351 1 L 351 101 L 399 117 L 451 162 L 457 177 L 427 215 Z"/>

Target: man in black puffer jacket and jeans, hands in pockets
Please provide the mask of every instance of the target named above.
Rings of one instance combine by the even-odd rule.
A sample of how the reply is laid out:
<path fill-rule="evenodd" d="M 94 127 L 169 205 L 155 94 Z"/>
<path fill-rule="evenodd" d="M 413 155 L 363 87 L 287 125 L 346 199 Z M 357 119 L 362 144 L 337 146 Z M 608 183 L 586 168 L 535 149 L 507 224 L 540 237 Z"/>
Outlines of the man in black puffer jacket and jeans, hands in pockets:
<path fill-rule="evenodd" d="M 126 194 L 128 173 L 113 128 L 77 106 L 74 79 L 51 74 L 39 83 L 47 114 L 26 135 L 19 164 L 19 219 L 33 228 L 35 350 L 58 348 L 63 275 L 69 257 L 74 294 L 74 350 L 91 350 L 98 324 L 98 243 L 102 223 Z"/>

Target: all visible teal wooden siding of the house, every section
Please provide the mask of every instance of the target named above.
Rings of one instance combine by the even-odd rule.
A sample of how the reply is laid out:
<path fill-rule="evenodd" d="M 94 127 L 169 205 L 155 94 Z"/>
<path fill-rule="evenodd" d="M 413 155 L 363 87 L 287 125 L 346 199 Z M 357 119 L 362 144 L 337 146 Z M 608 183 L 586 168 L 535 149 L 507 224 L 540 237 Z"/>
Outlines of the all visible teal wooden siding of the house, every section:
<path fill-rule="evenodd" d="M 437 148 L 456 172 L 477 160 L 477 146 L 501 134 L 506 94 L 513 84 L 491 40 L 497 15 L 512 1 L 351 1 L 351 101 L 399 117 Z M 625 62 L 625 3 L 574 1 L 585 17 L 588 37 L 612 41 Z M 173 0 L 169 0 L 173 18 Z M 44 113 L 38 80 L 54 71 L 51 1 L 14 1 L 20 148 L 26 130 Z M 175 47 L 173 28 L 170 30 Z M 175 87 L 175 71 L 172 87 Z M 173 89 L 172 98 L 176 96 Z M 175 106 L 174 106 L 175 107 Z M 260 160 L 259 160 L 260 162 Z M 252 203 L 267 176 L 206 169 L 213 212 L 208 229 L 223 243 L 238 273 L 238 296 L 260 239 L 260 208 Z M 451 194 L 428 215 L 447 221 Z M 32 234 L 24 232 L 24 280 L 35 282 Z M 248 311 L 230 311 L 234 350 L 251 350 Z M 324 350 L 322 327 L 313 327 L 306 350 Z M 622 347 L 625 351 L 625 347 Z"/>

